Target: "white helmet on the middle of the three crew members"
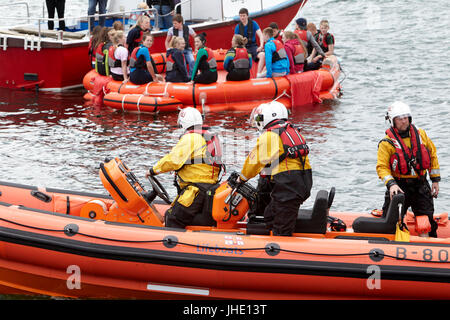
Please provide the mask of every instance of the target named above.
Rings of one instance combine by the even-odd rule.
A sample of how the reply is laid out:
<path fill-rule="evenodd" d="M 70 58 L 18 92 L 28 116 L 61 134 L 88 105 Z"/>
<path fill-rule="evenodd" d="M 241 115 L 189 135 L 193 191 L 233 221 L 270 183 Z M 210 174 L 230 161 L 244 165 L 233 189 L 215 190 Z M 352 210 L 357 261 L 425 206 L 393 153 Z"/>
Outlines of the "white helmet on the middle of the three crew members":
<path fill-rule="evenodd" d="M 277 119 L 286 119 L 288 112 L 286 107 L 278 102 L 271 101 L 268 103 L 262 103 L 252 110 L 250 114 L 250 124 L 252 127 L 257 128 L 260 132 L 264 130 L 266 125 Z"/>

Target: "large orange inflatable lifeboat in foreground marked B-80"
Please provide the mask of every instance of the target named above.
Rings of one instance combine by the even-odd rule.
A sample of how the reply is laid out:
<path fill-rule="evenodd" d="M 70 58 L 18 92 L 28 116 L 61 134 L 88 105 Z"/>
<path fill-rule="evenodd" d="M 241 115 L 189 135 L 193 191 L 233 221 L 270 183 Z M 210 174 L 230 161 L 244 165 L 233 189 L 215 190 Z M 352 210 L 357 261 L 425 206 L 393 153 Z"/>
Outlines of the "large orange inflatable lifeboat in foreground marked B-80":
<path fill-rule="evenodd" d="M 0 294 L 126 299 L 449 299 L 450 225 L 438 238 L 399 204 L 384 217 L 330 211 L 320 190 L 292 237 L 246 217 L 255 190 L 230 175 L 216 189 L 212 226 L 164 227 L 167 192 L 146 191 L 120 159 L 100 178 L 109 195 L 0 182 Z M 165 202 L 157 203 L 155 197 Z M 207 212 L 207 210 L 205 210 Z M 203 214 L 203 213 L 202 213 Z"/>

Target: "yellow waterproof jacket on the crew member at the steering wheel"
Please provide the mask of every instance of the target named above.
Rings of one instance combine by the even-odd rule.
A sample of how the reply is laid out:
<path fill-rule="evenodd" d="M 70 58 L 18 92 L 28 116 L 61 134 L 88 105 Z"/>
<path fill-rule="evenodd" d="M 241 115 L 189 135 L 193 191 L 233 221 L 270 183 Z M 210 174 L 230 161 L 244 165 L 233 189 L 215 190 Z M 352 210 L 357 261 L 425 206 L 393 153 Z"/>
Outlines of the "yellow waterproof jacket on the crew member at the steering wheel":
<path fill-rule="evenodd" d="M 206 140 L 199 133 L 184 134 L 169 154 L 153 167 L 156 174 L 178 171 L 180 187 L 186 183 L 217 183 L 219 168 L 202 163 L 207 150 Z"/>

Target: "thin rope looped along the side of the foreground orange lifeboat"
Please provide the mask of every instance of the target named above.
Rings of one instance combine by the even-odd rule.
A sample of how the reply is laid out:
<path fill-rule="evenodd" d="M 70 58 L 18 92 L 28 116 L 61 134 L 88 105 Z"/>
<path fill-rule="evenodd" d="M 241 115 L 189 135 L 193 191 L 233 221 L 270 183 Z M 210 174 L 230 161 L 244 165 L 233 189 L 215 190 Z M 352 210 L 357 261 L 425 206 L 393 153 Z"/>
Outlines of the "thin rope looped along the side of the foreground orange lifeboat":
<path fill-rule="evenodd" d="M 11 223 L 17 226 L 21 226 L 24 228 L 30 228 L 35 230 L 41 230 L 41 231 L 48 231 L 48 232 L 61 232 L 67 234 L 67 229 L 50 229 L 50 228 L 42 228 L 42 227 L 36 227 L 36 226 L 30 226 L 26 225 L 20 222 L 12 221 L 5 218 L 0 218 L 0 221 L 4 221 L 7 223 Z M 106 241 L 113 241 L 113 242 L 124 242 L 124 243 L 163 243 L 166 245 L 169 245 L 171 248 L 175 247 L 176 245 L 184 245 L 188 247 L 194 247 L 194 248 L 202 248 L 202 249 L 215 249 L 215 250 L 235 250 L 236 247 L 230 248 L 230 247 L 210 247 L 207 245 L 199 245 L 199 244 L 192 244 L 192 243 L 186 243 L 181 242 L 178 240 L 175 240 L 170 237 L 166 237 L 164 239 L 157 239 L 157 240 L 126 240 L 126 239 L 114 239 L 114 238 L 108 238 L 108 237 L 101 237 L 96 235 L 91 235 L 83 232 L 77 231 L 73 235 L 82 235 L 88 238 L 93 239 L 99 239 L 99 240 L 106 240 Z M 303 255 L 314 255 L 314 256 L 329 256 L 329 257 L 356 257 L 356 256 L 370 256 L 372 258 L 392 258 L 396 260 L 404 260 L 404 261 L 413 261 L 413 262 L 432 262 L 432 263 L 450 263 L 450 261 L 436 261 L 436 260 L 420 260 L 420 259 L 411 259 L 411 258 L 399 258 L 394 255 L 386 254 L 380 250 L 371 250 L 370 252 L 360 252 L 360 253 L 321 253 L 321 252 L 307 252 L 307 251 L 297 251 L 297 250 L 289 250 L 289 249 L 283 249 L 278 247 L 275 244 L 268 244 L 265 247 L 256 247 L 256 248 L 239 248 L 239 250 L 242 251 L 258 251 L 258 250 L 264 250 L 266 252 L 286 252 L 286 253 L 295 253 L 295 254 L 303 254 Z"/>

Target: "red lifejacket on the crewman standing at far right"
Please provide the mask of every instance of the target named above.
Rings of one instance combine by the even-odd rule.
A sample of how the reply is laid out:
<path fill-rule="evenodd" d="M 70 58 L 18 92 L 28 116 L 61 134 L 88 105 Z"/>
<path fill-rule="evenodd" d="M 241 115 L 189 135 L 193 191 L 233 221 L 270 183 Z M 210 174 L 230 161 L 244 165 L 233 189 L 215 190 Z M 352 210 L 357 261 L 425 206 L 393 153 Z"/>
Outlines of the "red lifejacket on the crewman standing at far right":
<path fill-rule="evenodd" d="M 417 128 L 411 124 L 409 135 L 411 138 L 411 148 L 409 148 L 400 137 L 397 129 L 389 128 L 386 130 L 389 139 L 383 139 L 392 144 L 395 153 L 391 156 L 391 170 L 397 174 L 408 175 L 413 174 L 414 170 L 417 175 L 423 175 L 422 171 L 431 168 L 431 158 L 428 149 L 423 145 L 420 139 L 420 133 Z"/>

